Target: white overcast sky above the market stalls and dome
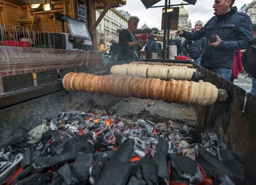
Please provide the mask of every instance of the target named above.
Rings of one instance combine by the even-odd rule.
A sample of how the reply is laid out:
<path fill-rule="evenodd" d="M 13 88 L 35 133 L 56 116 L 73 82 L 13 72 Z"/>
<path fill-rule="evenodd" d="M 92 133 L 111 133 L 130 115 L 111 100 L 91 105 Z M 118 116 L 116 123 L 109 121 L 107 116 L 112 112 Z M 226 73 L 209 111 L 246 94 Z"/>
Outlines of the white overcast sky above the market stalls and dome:
<path fill-rule="evenodd" d="M 234 6 L 240 9 L 244 3 L 250 3 L 253 0 L 236 0 Z M 165 0 L 160 1 L 154 6 L 164 5 Z M 171 4 L 180 4 L 181 0 L 171 0 Z M 184 2 L 186 3 L 186 2 Z M 195 6 L 186 5 L 185 9 L 189 11 L 189 20 L 191 20 L 192 28 L 197 20 L 201 20 L 204 24 L 214 16 L 212 8 L 214 0 L 197 0 Z M 128 11 L 131 15 L 136 15 L 140 18 L 138 28 L 146 22 L 149 28 L 161 28 L 162 8 L 146 9 L 140 0 L 126 0 L 126 5 L 118 8 Z"/>

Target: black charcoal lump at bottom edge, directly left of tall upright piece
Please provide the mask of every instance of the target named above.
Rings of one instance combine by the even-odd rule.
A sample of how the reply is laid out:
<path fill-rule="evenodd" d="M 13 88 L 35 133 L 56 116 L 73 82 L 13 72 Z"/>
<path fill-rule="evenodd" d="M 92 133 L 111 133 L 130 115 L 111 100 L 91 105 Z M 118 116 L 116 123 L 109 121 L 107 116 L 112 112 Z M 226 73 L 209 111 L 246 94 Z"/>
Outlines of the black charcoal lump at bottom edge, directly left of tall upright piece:
<path fill-rule="evenodd" d="M 147 182 L 147 185 L 157 184 L 157 165 L 151 154 L 146 154 L 145 157 L 140 159 L 140 165 L 142 166 L 143 179 Z"/>

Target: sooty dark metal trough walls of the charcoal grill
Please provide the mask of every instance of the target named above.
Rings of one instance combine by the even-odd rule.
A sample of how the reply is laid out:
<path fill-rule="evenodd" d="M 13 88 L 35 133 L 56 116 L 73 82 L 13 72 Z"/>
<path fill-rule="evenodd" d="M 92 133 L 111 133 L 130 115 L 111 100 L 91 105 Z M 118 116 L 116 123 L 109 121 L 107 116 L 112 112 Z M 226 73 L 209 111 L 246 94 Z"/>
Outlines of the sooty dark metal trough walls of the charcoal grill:
<path fill-rule="evenodd" d="M 88 70 L 87 68 L 76 68 L 76 71 L 105 75 L 109 73 L 112 65 L 130 62 L 132 61 L 99 64 L 96 66 L 89 65 Z M 254 169 L 256 164 L 253 162 L 256 143 L 253 137 L 256 132 L 253 126 L 256 98 L 251 94 L 246 94 L 243 89 L 223 78 L 219 80 L 219 77 L 211 71 L 199 65 L 194 65 L 203 75 L 202 80 L 211 82 L 218 88 L 227 90 L 229 99 L 226 104 L 215 103 L 212 106 L 195 106 L 194 109 L 197 119 L 193 118 L 194 120 L 190 120 L 189 122 L 193 125 L 198 121 L 198 129 L 202 132 L 209 133 L 215 131 L 218 137 L 227 143 L 235 154 L 241 157 L 249 177 L 253 176 L 256 173 Z M 120 102 L 120 98 L 108 95 L 92 95 L 86 92 L 79 93 L 64 90 L 58 78 L 63 77 L 64 74 L 70 71 L 75 71 L 75 69 L 66 69 L 66 72 L 63 70 L 60 74 L 57 71 L 38 72 L 38 86 L 35 87 L 32 74 L 21 75 L 18 78 L 19 80 L 15 82 L 11 81 L 14 80 L 11 78 L 3 79 L 3 83 L 6 81 L 9 84 L 11 84 L 10 82 L 16 84 L 16 88 L 12 85 L 5 86 L 5 90 L 7 89 L 6 94 L 0 95 L 0 115 L 2 120 L 0 139 L 3 144 L 15 144 L 22 141 L 22 139 L 26 138 L 28 131 L 39 125 L 41 120 L 46 117 L 55 117 L 58 112 L 64 109 L 83 109 L 89 111 L 93 108 L 99 108 L 100 110 L 112 110 L 111 107 Z M 26 89 L 23 89 L 23 87 L 26 87 Z M 244 106 L 245 97 L 247 98 L 247 102 Z M 128 103 L 131 107 L 132 104 L 130 102 Z M 163 102 L 159 103 L 164 105 Z M 143 118 L 149 116 L 151 119 L 154 118 L 154 121 L 165 119 L 166 116 L 159 117 L 157 114 L 151 114 L 150 111 L 147 111 L 147 109 L 153 108 L 154 106 L 140 109 L 137 115 L 142 115 Z M 244 113 L 242 113 L 242 110 Z M 185 112 L 183 113 L 185 114 Z M 12 116 L 10 117 L 10 115 Z M 188 120 L 186 117 L 186 119 L 177 118 L 173 121 L 182 124 Z M 250 179 L 250 181 L 252 184 L 255 182 L 254 179 Z"/>

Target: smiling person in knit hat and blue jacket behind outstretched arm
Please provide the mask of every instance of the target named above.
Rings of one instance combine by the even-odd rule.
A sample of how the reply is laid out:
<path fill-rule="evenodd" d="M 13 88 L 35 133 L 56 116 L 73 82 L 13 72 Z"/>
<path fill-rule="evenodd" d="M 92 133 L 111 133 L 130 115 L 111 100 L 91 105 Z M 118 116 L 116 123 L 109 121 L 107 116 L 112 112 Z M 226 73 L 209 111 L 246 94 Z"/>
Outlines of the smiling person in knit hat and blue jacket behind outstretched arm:
<path fill-rule="evenodd" d="M 202 21 L 198 20 L 195 23 L 195 29 L 192 29 L 192 32 L 199 31 L 203 26 Z M 186 39 L 182 46 L 183 54 L 186 57 L 189 57 L 191 59 L 195 60 L 195 63 L 200 65 L 201 63 L 201 56 L 204 52 L 204 48 L 206 45 L 206 39 L 205 37 L 199 39 L 199 40 L 188 40 Z"/>

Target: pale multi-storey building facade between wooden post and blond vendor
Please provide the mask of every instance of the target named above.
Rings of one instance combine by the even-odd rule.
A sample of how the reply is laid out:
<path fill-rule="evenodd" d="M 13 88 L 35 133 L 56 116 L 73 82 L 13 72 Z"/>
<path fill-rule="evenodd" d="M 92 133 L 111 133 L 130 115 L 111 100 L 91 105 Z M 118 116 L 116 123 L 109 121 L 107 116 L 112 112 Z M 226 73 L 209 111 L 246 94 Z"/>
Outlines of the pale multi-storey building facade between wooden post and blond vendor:
<path fill-rule="evenodd" d="M 96 10 L 96 20 L 99 18 L 102 10 Z M 128 27 L 128 18 L 125 17 L 117 9 L 109 9 L 105 14 L 102 21 L 97 27 L 97 41 L 104 39 L 106 47 L 111 46 L 110 41 L 115 40 L 118 42 L 118 33 L 117 29 L 127 28 Z"/>

